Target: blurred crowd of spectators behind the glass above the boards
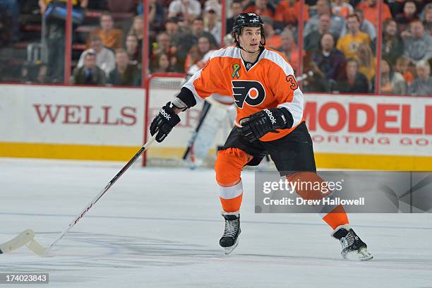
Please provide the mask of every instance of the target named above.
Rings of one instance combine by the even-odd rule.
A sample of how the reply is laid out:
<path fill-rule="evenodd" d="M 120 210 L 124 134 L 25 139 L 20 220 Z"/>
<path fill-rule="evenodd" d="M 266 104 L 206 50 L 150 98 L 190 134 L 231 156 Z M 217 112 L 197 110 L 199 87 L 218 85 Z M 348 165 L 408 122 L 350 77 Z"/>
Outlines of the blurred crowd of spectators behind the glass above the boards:
<path fill-rule="evenodd" d="M 378 1 L 148 0 L 145 15 L 141 0 L 73 0 L 68 44 L 66 1 L 0 0 L 0 81 L 141 86 L 143 74 L 195 73 L 254 12 L 306 92 L 431 96 L 432 0 Z"/>

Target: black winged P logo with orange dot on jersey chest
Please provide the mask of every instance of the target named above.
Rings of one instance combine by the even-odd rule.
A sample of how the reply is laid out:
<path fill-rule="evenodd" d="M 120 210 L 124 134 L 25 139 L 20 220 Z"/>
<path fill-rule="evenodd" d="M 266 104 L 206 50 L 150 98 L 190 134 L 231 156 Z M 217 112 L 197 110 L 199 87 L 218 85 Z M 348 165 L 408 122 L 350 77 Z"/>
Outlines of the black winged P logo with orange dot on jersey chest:
<path fill-rule="evenodd" d="M 239 108 L 243 108 L 244 103 L 249 106 L 258 106 L 265 99 L 263 84 L 258 81 L 232 80 L 232 96 Z"/>

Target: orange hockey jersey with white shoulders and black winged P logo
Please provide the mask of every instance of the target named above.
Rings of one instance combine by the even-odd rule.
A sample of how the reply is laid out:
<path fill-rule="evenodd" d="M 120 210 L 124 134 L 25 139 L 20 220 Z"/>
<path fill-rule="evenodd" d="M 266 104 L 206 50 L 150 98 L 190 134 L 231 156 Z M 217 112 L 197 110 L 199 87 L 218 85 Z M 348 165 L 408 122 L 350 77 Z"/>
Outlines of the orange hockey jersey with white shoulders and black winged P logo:
<path fill-rule="evenodd" d="M 246 116 L 265 108 L 284 107 L 292 113 L 294 124 L 279 133 L 267 133 L 260 138 L 271 141 L 282 138 L 304 121 L 303 93 L 294 78 L 292 66 L 279 52 L 265 48 L 258 61 L 248 71 L 241 59 L 240 49 L 224 47 L 215 51 L 203 69 L 185 84 L 196 102 L 212 93 L 232 95 L 236 103 L 236 125 Z"/>

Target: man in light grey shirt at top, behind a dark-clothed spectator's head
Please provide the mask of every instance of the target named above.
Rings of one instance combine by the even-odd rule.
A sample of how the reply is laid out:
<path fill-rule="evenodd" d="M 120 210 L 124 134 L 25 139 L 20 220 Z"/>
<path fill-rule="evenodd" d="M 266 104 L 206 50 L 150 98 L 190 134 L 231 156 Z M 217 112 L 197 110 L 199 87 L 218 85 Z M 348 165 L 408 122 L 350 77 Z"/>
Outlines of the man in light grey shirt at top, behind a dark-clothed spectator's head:
<path fill-rule="evenodd" d="M 304 32 L 303 35 L 306 37 L 309 35 L 312 31 L 318 31 L 318 23 L 319 18 L 323 14 L 327 14 L 331 18 L 331 25 L 330 25 L 330 33 L 332 35 L 335 35 L 336 37 L 340 36 L 340 33 L 342 32 L 342 28 L 345 25 L 345 20 L 339 15 L 332 14 L 331 7 L 330 7 L 330 1 L 328 0 L 318 0 L 316 1 L 316 16 L 311 17 L 306 25 L 304 26 Z"/>

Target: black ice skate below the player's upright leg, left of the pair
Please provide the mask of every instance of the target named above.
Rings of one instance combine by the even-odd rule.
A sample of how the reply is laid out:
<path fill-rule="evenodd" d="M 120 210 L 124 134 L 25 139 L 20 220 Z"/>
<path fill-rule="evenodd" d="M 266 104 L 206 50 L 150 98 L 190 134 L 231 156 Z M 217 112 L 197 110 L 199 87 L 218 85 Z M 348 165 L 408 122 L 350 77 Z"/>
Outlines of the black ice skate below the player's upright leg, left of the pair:
<path fill-rule="evenodd" d="M 219 244 L 228 255 L 239 244 L 240 215 L 239 212 L 222 212 L 222 216 L 225 218 L 225 229 Z"/>

